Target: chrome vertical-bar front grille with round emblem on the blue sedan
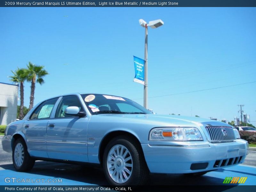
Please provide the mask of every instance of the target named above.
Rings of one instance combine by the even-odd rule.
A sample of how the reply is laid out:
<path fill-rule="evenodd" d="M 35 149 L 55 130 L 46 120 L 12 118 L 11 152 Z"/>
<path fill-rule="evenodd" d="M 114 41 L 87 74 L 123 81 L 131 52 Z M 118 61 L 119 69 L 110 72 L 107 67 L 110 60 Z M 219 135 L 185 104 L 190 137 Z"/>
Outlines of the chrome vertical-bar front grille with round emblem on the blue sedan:
<path fill-rule="evenodd" d="M 236 136 L 232 127 L 206 126 L 205 128 L 210 135 L 211 143 L 231 142 L 236 140 Z"/>

